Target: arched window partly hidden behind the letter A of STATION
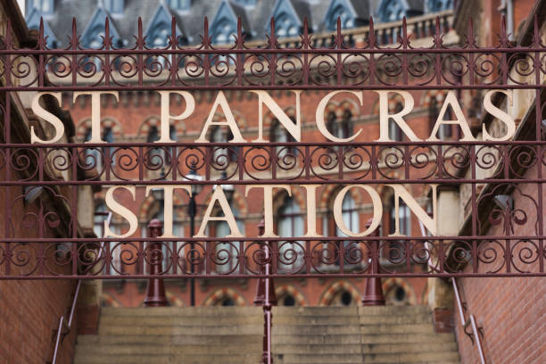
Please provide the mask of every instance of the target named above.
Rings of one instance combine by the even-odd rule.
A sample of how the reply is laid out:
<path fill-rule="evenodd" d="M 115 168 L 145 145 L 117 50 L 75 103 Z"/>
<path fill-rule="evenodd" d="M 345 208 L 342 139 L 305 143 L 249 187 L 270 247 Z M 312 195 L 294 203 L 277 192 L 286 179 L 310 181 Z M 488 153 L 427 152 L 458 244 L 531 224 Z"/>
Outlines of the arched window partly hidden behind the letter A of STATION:
<path fill-rule="evenodd" d="M 233 216 L 236 219 L 237 227 L 244 234 L 243 221 L 239 219 L 239 211 L 232 209 Z M 226 221 L 219 221 L 215 226 L 214 236 L 226 237 L 231 233 Z M 236 269 L 239 250 L 239 242 L 216 243 L 216 271 L 220 274 L 227 274 Z"/>

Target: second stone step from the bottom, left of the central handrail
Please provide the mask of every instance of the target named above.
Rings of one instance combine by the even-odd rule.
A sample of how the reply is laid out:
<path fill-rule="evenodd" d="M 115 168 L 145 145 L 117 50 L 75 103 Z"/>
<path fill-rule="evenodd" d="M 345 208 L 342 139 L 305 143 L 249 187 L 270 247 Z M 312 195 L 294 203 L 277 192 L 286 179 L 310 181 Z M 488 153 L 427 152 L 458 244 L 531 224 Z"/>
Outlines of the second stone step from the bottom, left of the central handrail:
<path fill-rule="evenodd" d="M 203 355 L 214 353 L 215 355 L 236 355 L 241 353 L 261 352 L 261 343 L 231 344 L 231 345 L 171 345 L 171 344 L 90 344 L 76 345 L 76 355 L 89 352 L 100 352 L 101 355 Z"/>

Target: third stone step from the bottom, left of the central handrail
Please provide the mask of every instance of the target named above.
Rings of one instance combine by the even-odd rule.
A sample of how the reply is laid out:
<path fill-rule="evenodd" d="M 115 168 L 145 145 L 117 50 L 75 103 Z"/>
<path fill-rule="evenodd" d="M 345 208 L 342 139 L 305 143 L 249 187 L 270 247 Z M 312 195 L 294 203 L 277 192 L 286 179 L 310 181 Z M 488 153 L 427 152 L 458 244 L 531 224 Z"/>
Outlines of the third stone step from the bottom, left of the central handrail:
<path fill-rule="evenodd" d="M 234 343 L 257 343 L 261 344 L 261 335 L 79 335 L 78 345 L 118 343 L 136 344 L 207 344 L 207 345 L 230 345 Z"/>

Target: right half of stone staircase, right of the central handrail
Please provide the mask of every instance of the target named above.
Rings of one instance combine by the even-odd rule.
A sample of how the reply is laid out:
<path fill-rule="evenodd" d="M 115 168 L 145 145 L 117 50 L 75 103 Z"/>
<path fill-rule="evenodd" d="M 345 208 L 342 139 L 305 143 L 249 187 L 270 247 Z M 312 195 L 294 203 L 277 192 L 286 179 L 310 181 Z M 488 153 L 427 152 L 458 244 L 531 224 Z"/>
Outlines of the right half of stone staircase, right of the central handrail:
<path fill-rule="evenodd" d="M 275 364 L 459 363 L 426 306 L 275 307 Z"/>

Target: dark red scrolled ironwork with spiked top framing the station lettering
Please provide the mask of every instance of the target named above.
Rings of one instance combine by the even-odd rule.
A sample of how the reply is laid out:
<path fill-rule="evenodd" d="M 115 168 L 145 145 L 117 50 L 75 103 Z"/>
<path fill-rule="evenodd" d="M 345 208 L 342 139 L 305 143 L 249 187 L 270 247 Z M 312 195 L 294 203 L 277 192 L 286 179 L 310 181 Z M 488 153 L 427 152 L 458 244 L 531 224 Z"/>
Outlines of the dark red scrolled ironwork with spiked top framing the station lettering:
<path fill-rule="evenodd" d="M 211 45 L 205 21 L 200 45 L 179 45 L 173 33 L 164 49 L 146 45 L 141 21 L 135 44 L 126 48 L 112 45 L 108 23 L 100 49 L 82 47 L 75 21 L 64 49 L 47 47 L 43 25 L 34 48 L 16 48 L 8 20 L 6 37 L 0 42 L 0 77 L 4 80 L 0 112 L 5 136 L 0 145 L 0 186 L 8 196 L 3 206 L 0 279 L 546 276 L 542 198 L 521 194 L 526 203 L 513 210 L 491 207 L 490 203 L 497 195 L 518 191 L 522 184 L 533 186 L 536 195 L 542 196 L 546 142 L 542 123 L 545 105 L 540 100 L 545 88 L 541 79 L 546 73 L 546 47 L 538 22 L 535 20 L 534 37 L 528 45 L 510 43 L 503 27 L 497 45 L 481 47 L 469 22 L 465 44 L 451 46 L 444 44 L 450 28 L 447 17 L 435 19 L 427 33 L 433 39 L 430 46 L 412 43 L 409 30 L 415 34 L 420 30 L 408 29 L 405 20 L 397 33 L 398 41 L 390 46 L 379 39 L 373 19 L 358 46 L 339 24 L 331 43 L 315 43 L 307 27 L 301 37 L 288 42 L 276 36 L 272 20 L 268 41 L 261 45 L 245 42 L 240 22 L 235 44 Z M 521 140 L 503 142 L 113 143 L 103 148 L 102 144 L 30 145 L 11 140 L 13 92 L 393 88 L 534 90 L 534 127 L 531 122 L 526 130 L 531 132 Z M 161 155 L 153 153 L 157 148 L 161 148 Z M 114 165 L 116 160 L 124 162 Z M 47 164 L 49 161 L 53 163 Z M 203 180 L 188 178 L 189 166 Z M 95 169 L 98 176 L 79 176 L 77 169 Z M 165 178 L 145 180 L 146 172 L 157 170 L 165 170 Z M 65 171 L 71 173 L 59 178 Z M 534 177 L 526 178 L 525 171 L 535 171 Z M 470 213 L 459 236 L 381 236 L 378 246 L 376 236 L 84 238 L 77 231 L 77 198 L 70 200 L 57 190 L 70 187 L 75 196 L 77 186 L 91 185 L 280 183 L 467 186 Z M 488 187 L 481 191 L 484 185 Z M 27 187 L 23 193 L 21 186 Z M 38 188 L 39 193 L 70 206 L 68 237 L 43 234 L 57 219 L 55 211 L 48 211 L 49 206 L 26 212 L 23 220 L 29 234 L 14 236 L 18 223 L 14 206 Z M 513 227 L 525 224 L 530 227 L 525 234 L 514 233 L 519 230 Z M 497 225 L 503 227 L 501 233 L 483 235 L 484 227 Z M 108 244 L 100 246 L 99 242 Z M 173 242 L 178 242 L 178 248 L 173 248 Z M 217 243 L 229 246 L 224 251 L 227 256 L 219 257 L 207 249 Z M 161 246 L 170 264 L 146 273 L 152 246 Z M 283 253 L 286 247 L 291 254 Z M 99 253 L 87 254 L 97 249 Z M 388 257 L 380 255 L 393 249 L 397 252 Z M 187 252 L 191 252 L 189 256 Z M 262 259 L 266 254 L 271 261 L 269 273 L 264 270 L 269 263 Z M 114 256 L 120 256 L 121 269 L 113 267 Z M 211 269 L 218 261 L 234 268 L 222 273 Z M 370 262 L 378 267 L 370 269 Z M 427 262 L 433 267 L 421 269 Z M 280 265 L 291 268 L 277 269 Z M 109 273 L 111 268 L 115 275 Z"/>

